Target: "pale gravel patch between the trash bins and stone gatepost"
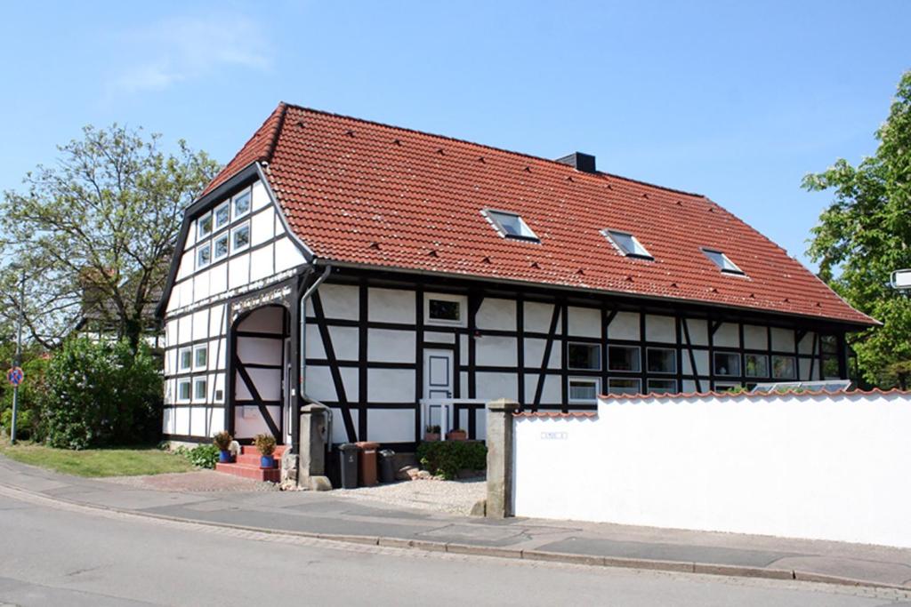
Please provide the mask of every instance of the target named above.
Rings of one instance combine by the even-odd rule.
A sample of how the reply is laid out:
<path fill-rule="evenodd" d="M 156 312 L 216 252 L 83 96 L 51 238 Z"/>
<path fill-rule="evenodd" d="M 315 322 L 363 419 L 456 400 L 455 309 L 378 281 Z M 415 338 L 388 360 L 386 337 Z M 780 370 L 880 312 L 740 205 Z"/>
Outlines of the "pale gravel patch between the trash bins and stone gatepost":
<path fill-rule="evenodd" d="M 393 506 L 418 508 L 447 514 L 468 515 L 476 501 L 484 499 L 486 481 L 399 481 L 376 487 L 339 489 L 333 497 L 382 501 Z"/>

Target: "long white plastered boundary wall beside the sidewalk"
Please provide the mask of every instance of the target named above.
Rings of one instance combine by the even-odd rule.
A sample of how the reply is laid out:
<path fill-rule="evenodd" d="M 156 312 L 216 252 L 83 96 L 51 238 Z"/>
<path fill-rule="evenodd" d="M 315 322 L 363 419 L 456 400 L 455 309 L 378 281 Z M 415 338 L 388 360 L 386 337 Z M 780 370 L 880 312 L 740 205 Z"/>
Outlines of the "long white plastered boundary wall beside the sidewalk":
<path fill-rule="evenodd" d="M 911 547 L 911 395 L 619 398 L 515 418 L 517 516 Z"/>

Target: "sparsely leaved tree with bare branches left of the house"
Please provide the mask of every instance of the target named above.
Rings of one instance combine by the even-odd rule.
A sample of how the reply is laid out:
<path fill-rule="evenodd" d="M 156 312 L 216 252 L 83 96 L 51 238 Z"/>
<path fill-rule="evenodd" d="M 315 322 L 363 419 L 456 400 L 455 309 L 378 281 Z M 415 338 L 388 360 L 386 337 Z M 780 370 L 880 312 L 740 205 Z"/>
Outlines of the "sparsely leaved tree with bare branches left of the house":
<path fill-rule="evenodd" d="M 54 166 L 26 175 L 24 192 L 5 192 L 0 330 L 7 336 L 24 269 L 32 339 L 51 348 L 90 314 L 136 348 L 154 323 L 180 213 L 219 168 L 182 140 L 176 154 L 162 152 L 159 139 L 117 124 L 86 126 L 82 139 L 57 148 Z"/>

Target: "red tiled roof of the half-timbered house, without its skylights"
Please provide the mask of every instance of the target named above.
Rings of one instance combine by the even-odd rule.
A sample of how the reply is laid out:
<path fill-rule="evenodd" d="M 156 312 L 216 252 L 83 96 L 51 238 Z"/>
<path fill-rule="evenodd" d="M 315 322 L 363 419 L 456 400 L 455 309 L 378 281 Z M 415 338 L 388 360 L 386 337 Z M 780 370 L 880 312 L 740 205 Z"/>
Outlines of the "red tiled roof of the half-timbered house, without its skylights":
<path fill-rule="evenodd" d="M 708 197 L 555 160 L 280 104 L 206 192 L 265 162 L 288 223 L 317 258 L 875 324 Z M 503 238 L 515 212 L 540 242 Z M 654 260 L 601 234 L 629 232 Z M 722 273 L 723 251 L 745 277 Z"/>

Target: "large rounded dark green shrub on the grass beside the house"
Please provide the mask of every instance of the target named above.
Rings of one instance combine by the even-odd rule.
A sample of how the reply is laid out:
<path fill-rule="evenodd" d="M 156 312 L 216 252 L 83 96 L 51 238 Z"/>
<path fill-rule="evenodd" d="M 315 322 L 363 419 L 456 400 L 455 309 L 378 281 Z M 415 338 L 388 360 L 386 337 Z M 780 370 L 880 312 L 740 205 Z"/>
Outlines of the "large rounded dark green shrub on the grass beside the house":
<path fill-rule="evenodd" d="M 46 443 L 87 449 L 152 442 L 160 435 L 162 380 L 145 344 L 68 340 L 47 365 L 41 402 Z"/>

